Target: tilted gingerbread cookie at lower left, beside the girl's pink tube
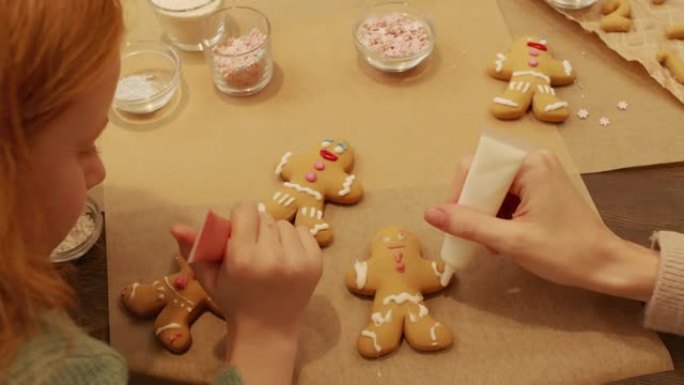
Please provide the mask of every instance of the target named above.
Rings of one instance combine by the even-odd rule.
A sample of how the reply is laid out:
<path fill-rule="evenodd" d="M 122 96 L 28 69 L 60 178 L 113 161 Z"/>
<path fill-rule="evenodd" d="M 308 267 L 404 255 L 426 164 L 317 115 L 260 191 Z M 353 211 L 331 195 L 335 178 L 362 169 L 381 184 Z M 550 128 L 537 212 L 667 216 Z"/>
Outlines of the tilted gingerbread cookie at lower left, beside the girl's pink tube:
<path fill-rule="evenodd" d="M 154 321 L 159 342 L 173 353 L 192 345 L 190 325 L 205 310 L 223 318 L 214 301 L 202 289 L 188 263 L 176 256 L 179 272 L 151 284 L 135 282 L 121 290 L 121 302 L 131 313 Z"/>

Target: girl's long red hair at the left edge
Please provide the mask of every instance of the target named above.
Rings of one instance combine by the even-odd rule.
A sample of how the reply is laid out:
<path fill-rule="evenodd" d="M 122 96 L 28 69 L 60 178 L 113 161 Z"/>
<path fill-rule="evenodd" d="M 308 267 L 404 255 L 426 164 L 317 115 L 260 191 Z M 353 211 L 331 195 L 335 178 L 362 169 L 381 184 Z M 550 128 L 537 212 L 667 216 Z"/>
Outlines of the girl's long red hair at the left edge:
<path fill-rule="evenodd" d="M 29 145 L 118 54 L 119 0 L 0 0 L 0 373 L 44 309 L 73 306 L 73 290 L 48 252 L 18 225 L 44 223 L 35 209 Z M 41 226 L 37 227 L 40 231 Z"/>

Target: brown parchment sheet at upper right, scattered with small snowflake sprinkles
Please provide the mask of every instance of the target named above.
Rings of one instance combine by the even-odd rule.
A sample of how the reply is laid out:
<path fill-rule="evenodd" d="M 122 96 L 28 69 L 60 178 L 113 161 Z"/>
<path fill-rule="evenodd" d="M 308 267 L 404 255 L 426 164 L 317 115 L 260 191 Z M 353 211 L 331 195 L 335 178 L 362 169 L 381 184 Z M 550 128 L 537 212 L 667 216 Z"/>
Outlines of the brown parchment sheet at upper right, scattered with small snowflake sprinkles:
<path fill-rule="evenodd" d="M 568 121 L 559 126 L 559 132 L 581 173 L 684 160 L 684 106 L 651 78 L 644 66 L 626 61 L 608 48 L 600 36 L 566 19 L 542 0 L 498 3 L 512 36 L 546 36 L 554 53 L 570 60 L 577 70 L 577 82 L 558 88 L 557 92 L 573 111 Z M 678 0 L 667 4 L 666 7 L 684 6 Z M 641 28 L 643 22 L 637 21 L 636 25 Z M 631 41 L 625 34 L 615 35 L 613 39 Z M 629 104 L 625 111 L 617 109 L 622 100 Z M 589 111 L 588 119 L 577 117 L 580 108 Z M 607 127 L 599 125 L 603 116 L 611 121 Z"/>

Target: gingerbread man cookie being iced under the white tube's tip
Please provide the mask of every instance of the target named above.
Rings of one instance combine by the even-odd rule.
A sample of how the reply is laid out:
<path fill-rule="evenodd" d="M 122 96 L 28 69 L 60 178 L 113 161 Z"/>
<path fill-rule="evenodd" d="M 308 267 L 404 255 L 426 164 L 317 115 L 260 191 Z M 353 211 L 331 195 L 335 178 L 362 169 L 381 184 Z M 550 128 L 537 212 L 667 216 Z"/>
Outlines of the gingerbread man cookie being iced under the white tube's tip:
<path fill-rule="evenodd" d="M 402 334 L 419 351 L 451 346 L 451 330 L 430 316 L 423 300 L 423 294 L 445 288 L 440 282 L 444 262 L 424 259 L 418 238 L 400 227 L 380 230 L 371 249 L 371 257 L 357 261 L 346 277 L 350 291 L 375 295 L 371 322 L 358 340 L 359 353 L 366 358 L 389 354 Z"/>

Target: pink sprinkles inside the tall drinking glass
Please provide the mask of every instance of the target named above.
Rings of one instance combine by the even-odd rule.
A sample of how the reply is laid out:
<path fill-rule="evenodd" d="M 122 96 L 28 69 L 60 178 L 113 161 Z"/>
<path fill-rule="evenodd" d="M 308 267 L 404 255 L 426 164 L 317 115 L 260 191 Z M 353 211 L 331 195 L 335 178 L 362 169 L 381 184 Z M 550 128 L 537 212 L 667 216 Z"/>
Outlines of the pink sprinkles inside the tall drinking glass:
<path fill-rule="evenodd" d="M 266 35 L 254 28 L 246 35 L 231 38 L 225 45 L 212 48 L 214 65 L 223 79 L 234 88 L 258 83 L 265 67 Z"/>

